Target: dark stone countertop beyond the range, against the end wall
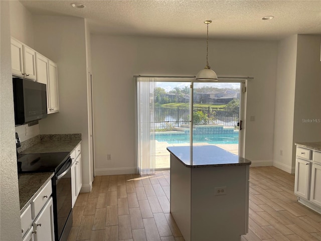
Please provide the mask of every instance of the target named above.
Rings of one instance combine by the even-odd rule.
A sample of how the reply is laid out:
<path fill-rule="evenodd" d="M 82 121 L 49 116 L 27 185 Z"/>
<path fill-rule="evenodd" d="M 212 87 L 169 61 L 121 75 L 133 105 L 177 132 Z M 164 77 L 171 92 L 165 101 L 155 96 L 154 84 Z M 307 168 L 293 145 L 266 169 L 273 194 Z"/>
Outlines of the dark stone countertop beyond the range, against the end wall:
<path fill-rule="evenodd" d="M 41 141 L 20 154 L 72 152 L 81 140 Z"/>

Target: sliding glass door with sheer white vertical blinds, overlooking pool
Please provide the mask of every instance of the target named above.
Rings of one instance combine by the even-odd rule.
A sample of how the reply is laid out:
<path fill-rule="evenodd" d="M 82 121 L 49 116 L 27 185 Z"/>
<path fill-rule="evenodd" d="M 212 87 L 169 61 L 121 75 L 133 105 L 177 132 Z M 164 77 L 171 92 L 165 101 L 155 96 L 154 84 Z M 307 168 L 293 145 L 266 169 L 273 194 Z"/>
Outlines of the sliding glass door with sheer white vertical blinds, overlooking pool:
<path fill-rule="evenodd" d="M 245 80 L 151 81 L 137 92 L 138 163 L 169 169 L 170 146 L 215 145 L 244 157 Z"/>

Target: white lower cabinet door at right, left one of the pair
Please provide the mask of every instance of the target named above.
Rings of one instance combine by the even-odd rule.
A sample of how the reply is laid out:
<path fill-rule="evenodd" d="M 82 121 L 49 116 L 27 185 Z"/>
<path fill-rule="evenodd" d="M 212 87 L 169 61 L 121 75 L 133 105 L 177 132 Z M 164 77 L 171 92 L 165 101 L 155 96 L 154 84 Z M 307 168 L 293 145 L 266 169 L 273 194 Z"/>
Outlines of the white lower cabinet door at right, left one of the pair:
<path fill-rule="evenodd" d="M 311 163 L 297 158 L 295 162 L 294 193 L 305 199 L 309 199 L 310 167 Z"/>

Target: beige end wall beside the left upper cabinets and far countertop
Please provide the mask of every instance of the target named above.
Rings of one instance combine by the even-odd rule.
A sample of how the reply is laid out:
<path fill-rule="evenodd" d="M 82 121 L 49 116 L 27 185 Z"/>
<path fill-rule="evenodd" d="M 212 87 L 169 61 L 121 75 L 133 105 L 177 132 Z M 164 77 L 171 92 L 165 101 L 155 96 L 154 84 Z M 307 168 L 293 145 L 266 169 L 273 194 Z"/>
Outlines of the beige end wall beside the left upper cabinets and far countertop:
<path fill-rule="evenodd" d="M 81 191 L 90 191 L 85 20 L 34 16 L 35 48 L 58 65 L 59 112 L 39 122 L 41 134 L 81 133 Z"/>

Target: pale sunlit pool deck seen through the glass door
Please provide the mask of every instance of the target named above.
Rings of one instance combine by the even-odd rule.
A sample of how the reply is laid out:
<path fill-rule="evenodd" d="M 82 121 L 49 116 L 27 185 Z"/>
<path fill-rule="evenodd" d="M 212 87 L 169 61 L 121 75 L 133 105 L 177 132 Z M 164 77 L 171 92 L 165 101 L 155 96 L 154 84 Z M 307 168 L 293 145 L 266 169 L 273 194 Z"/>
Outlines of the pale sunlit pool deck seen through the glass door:
<path fill-rule="evenodd" d="M 167 142 L 156 141 L 156 169 L 168 169 L 170 168 L 170 152 L 166 150 L 167 147 L 186 146 L 187 144 L 169 144 Z M 194 143 L 195 146 L 211 145 L 208 143 Z M 215 144 L 228 152 L 238 155 L 239 145 L 238 144 Z"/>

